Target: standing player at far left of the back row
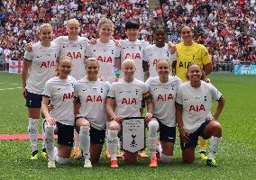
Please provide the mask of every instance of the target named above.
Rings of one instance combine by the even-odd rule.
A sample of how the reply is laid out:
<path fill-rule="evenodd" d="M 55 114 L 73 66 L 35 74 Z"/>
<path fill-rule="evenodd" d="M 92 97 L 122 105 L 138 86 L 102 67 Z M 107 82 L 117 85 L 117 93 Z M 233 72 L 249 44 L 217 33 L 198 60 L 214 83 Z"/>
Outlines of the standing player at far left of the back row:
<path fill-rule="evenodd" d="M 59 45 L 51 41 L 53 29 L 49 23 L 41 24 L 39 36 L 41 40 L 32 45 L 34 50 L 25 51 L 22 73 L 23 96 L 29 111 L 28 131 L 32 146 L 31 159 L 38 159 L 37 134 L 43 86 L 53 76 L 56 59 L 59 58 Z M 46 157 L 45 147 L 43 147 L 42 156 Z"/>

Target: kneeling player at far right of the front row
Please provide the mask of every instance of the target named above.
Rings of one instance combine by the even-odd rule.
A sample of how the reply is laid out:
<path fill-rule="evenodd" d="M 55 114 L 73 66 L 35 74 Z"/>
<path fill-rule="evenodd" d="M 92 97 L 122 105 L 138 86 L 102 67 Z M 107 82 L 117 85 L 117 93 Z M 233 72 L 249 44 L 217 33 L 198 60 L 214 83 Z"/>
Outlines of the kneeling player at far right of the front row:
<path fill-rule="evenodd" d="M 184 163 L 195 161 L 195 148 L 198 136 L 210 138 L 207 166 L 216 166 L 215 153 L 220 145 L 222 127 L 217 121 L 224 108 L 224 97 L 214 85 L 201 80 L 203 72 L 197 64 L 187 67 L 189 81 L 178 87 L 176 118 L 180 134 L 180 146 Z M 211 107 L 217 101 L 212 117 Z"/>

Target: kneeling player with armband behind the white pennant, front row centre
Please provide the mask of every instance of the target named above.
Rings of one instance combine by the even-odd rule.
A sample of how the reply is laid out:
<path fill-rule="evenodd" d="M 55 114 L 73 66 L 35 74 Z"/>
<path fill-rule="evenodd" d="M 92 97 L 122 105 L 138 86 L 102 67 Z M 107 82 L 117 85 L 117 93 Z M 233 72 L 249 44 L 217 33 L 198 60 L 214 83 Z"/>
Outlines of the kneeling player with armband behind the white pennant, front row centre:
<path fill-rule="evenodd" d="M 117 167 L 116 158 L 118 131 L 120 123 L 124 117 L 140 117 L 141 102 L 145 100 L 148 107 L 148 113 L 145 121 L 149 126 L 149 145 L 151 149 L 151 166 L 157 166 L 156 146 L 157 146 L 157 130 L 159 123 L 152 118 L 153 104 L 149 88 L 142 81 L 134 78 L 136 70 L 133 59 L 125 59 L 122 65 L 123 78 L 118 82 L 113 83 L 106 99 L 106 112 L 110 115 L 113 121 L 109 122 L 107 134 L 107 148 L 110 151 L 111 166 Z M 131 153 L 124 151 L 124 161 L 127 164 L 137 162 L 137 152 Z"/>

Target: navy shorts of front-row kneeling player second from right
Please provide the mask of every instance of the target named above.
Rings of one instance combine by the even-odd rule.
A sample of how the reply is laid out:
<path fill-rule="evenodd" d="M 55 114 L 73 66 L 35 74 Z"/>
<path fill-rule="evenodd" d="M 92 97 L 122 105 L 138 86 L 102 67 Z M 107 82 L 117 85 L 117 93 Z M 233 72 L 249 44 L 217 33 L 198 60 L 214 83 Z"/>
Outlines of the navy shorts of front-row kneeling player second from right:
<path fill-rule="evenodd" d="M 160 124 L 160 141 L 175 143 L 176 139 L 176 127 L 168 127 L 161 123 Z"/>

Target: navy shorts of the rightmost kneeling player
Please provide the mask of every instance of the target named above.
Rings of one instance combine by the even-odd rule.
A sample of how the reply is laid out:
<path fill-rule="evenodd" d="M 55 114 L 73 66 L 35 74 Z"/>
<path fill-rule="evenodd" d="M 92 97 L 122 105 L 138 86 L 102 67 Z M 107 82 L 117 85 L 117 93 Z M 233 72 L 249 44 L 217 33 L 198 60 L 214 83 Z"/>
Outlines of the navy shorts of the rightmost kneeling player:
<path fill-rule="evenodd" d="M 193 133 L 188 135 L 189 141 L 185 144 L 181 141 L 180 139 L 180 147 L 182 150 L 186 149 L 186 148 L 191 148 L 197 147 L 197 141 L 198 141 L 198 136 L 201 136 L 203 139 L 209 139 L 210 137 L 206 137 L 203 134 L 203 131 L 206 128 L 206 125 L 210 122 L 210 120 L 204 121 L 201 126 Z"/>

